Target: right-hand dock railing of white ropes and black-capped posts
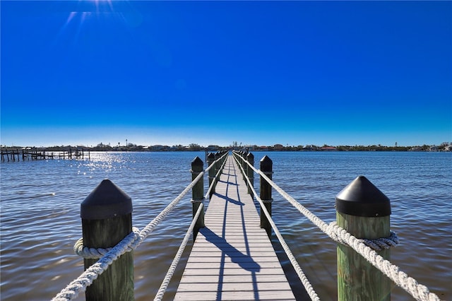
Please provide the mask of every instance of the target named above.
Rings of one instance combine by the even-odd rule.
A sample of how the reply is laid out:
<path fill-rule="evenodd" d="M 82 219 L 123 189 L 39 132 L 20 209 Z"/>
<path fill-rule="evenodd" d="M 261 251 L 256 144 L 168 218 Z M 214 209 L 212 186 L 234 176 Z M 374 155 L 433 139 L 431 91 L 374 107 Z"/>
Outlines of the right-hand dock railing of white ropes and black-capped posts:
<path fill-rule="evenodd" d="M 436 294 L 429 292 L 425 285 L 417 283 L 414 278 L 388 261 L 390 247 L 398 244 L 396 233 L 389 229 L 391 205 L 389 199 L 368 179 L 359 176 L 340 191 L 335 202 L 336 221 L 327 224 L 272 181 L 270 158 L 264 156 L 260 162 L 261 169 L 257 170 L 247 160 L 249 153 L 234 151 L 233 154 L 252 194 L 261 205 L 261 228 L 266 228 L 268 233 L 270 228 L 273 229 L 311 300 L 319 300 L 319 297 L 271 219 L 273 199 L 268 186 L 273 187 L 321 231 L 338 242 L 338 300 L 391 300 L 389 280 L 403 288 L 416 300 L 440 300 Z M 249 168 L 260 176 L 260 197 L 257 196 L 248 177 Z M 262 216 L 265 216 L 268 223 L 262 223 Z"/>

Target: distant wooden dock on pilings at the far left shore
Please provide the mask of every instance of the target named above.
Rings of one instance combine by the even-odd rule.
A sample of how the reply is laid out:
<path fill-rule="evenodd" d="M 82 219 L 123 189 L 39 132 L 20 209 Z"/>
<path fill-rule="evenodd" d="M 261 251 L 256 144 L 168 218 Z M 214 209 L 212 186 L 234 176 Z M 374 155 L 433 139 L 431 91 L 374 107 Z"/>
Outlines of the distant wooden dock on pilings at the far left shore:
<path fill-rule="evenodd" d="M 46 151 L 42 148 L 1 148 L 1 162 L 49 159 L 84 159 L 90 158 L 90 151 L 83 148 L 69 148 L 66 151 Z"/>

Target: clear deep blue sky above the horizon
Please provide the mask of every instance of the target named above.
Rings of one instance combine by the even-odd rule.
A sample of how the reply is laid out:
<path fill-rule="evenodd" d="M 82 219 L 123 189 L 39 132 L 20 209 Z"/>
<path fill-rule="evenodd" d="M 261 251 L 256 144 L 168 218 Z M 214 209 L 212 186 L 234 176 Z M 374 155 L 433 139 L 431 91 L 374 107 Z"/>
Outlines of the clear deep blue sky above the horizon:
<path fill-rule="evenodd" d="M 1 144 L 452 141 L 451 1 L 1 1 Z"/>

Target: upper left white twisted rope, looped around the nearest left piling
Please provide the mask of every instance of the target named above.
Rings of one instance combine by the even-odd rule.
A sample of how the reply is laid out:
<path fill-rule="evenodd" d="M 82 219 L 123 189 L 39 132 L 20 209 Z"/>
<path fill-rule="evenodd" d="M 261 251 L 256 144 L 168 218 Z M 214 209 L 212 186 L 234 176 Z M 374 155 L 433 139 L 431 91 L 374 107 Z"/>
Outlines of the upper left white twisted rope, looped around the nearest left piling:
<path fill-rule="evenodd" d="M 225 153 L 227 155 L 227 153 Z M 218 160 L 222 160 L 225 157 L 223 155 Z M 215 163 L 218 162 L 215 160 Z M 113 263 L 125 252 L 130 252 L 136 249 L 138 245 L 145 240 L 146 237 L 157 227 L 157 225 L 166 218 L 166 216 L 174 209 L 175 206 L 181 201 L 181 199 L 194 187 L 196 183 L 206 174 L 210 168 L 214 166 L 211 164 L 206 170 L 203 170 L 196 176 L 196 178 L 176 197 L 168 206 L 161 211 L 157 217 L 155 217 L 148 225 L 139 231 L 138 228 L 132 228 L 132 232 L 124 237 L 116 246 L 107 249 L 93 249 L 88 247 L 83 247 L 83 238 L 78 240 L 74 246 L 74 252 L 76 254 L 83 256 L 84 258 L 97 259 L 101 257 L 95 264 L 87 268 L 81 276 L 76 278 L 74 281 L 69 283 L 63 290 L 60 291 L 52 300 L 62 301 L 62 300 L 73 300 L 78 294 L 83 293 L 93 281 L 100 276 L 104 271 L 107 270 L 108 266 Z M 200 206 L 203 207 L 203 206 Z"/>

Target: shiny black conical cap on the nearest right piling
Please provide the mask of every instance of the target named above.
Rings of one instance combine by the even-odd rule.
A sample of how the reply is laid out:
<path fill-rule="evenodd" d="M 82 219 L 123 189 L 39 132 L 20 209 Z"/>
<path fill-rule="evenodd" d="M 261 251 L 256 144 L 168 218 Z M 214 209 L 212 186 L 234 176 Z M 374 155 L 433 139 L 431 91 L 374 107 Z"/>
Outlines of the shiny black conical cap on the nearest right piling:
<path fill-rule="evenodd" d="M 391 203 L 366 177 L 359 176 L 336 196 L 336 210 L 350 216 L 389 216 Z"/>

